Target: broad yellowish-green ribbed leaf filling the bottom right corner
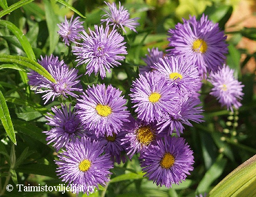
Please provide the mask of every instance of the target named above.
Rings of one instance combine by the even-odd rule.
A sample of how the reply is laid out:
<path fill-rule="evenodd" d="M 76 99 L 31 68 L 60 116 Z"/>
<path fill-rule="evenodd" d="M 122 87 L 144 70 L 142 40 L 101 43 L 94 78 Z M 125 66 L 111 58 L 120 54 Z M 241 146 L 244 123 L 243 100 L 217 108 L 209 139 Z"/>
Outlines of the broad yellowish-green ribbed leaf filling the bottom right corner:
<path fill-rule="evenodd" d="M 238 166 L 210 192 L 209 197 L 256 195 L 256 156 Z"/>

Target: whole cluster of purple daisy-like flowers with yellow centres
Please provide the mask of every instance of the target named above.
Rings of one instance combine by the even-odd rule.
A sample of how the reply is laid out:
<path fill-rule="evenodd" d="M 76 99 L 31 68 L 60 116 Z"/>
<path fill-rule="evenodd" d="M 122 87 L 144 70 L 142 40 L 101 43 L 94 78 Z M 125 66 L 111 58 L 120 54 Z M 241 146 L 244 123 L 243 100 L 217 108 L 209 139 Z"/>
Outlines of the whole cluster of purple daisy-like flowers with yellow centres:
<path fill-rule="evenodd" d="M 137 32 L 139 25 L 138 18 L 130 18 L 121 3 L 119 9 L 115 3 L 106 5 L 106 18 L 101 19 L 105 28 L 95 25 L 95 31 L 89 28 L 88 34 L 79 17 L 73 20 L 73 16 L 59 24 L 65 45 L 76 44 L 72 52 L 77 65 L 86 64 L 85 74 L 100 73 L 102 79 L 106 70 L 111 72 L 125 60 L 122 31 L 127 27 Z M 139 66 L 140 74 L 129 94 L 134 114 L 127 110 L 121 90 L 104 83 L 82 90 L 79 70 L 53 55 L 38 62 L 56 83 L 34 71 L 28 73 L 29 84 L 44 94 L 45 103 L 55 97 L 76 98 L 75 106 L 54 106 L 46 116 L 52 128 L 44 133 L 48 144 L 59 152 L 57 174 L 64 182 L 84 188 L 104 186 L 110 181 L 113 162 L 124 163 L 126 156 L 131 160 L 138 153 L 144 176 L 160 186 L 179 184 L 193 170 L 193 151 L 180 135 L 185 125 L 203 121 L 202 79 L 209 74 L 214 86 L 210 94 L 222 106 L 229 110 L 241 106 L 243 86 L 233 77 L 234 70 L 224 65 L 228 52 L 224 32 L 204 15 L 199 21 L 193 16 L 183 22 L 168 31 L 172 48 L 166 56 L 152 48 L 143 58 L 147 65 Z"/>

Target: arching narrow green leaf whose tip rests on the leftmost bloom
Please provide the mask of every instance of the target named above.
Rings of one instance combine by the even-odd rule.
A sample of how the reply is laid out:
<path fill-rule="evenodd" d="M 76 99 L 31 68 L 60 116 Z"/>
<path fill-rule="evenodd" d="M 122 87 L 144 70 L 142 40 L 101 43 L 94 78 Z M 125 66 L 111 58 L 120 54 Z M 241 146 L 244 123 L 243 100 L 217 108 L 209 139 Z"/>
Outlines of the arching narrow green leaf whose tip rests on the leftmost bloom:
<path fill-rule="evenodd" d="M 13 64 L 18 64 L 20 66 L 30 68 L 32 70 L 35 70 L 35 72 L 39 73 L 43 77 L 46 77 L 47 79 L 49 79 L 49 81 L 56 83 L 55 79 L 51 76 L 51 74 L 45 68 L 43 68 L 42 65 L 38 64 L 34 60 L 31 60 L 30 58 L 22 57 L 22 56 L 0 55 L 0 62 L 13 63 Z"/>

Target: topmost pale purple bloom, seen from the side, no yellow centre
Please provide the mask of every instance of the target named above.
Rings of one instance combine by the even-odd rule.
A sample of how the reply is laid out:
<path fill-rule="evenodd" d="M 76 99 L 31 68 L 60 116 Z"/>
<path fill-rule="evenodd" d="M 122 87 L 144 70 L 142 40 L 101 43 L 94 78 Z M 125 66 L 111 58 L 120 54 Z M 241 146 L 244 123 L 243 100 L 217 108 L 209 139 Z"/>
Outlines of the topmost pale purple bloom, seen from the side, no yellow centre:
<path fill-rule="evenodd" d="M 106 16 L 106 19 L 101 19 L 101 22 L 106 22 L 106 26 L 110 25 L 115 27 L 122 28 L 122 30 L 126 33 L 125 27 L 128 27 L 130 30 L 137 32 L 135 28 L 139 26 L 137 20 L 139 18 L 131 18 L 128 10 L 126 10 L 121 3 L 119 2 L 119 9 L 117 9 L 117 5 L 113 2 L 112 5 L 108 2 L 105 2 L 108 5 L 109 10 L 102 9 L 106 12 L 106 14 L 102 16 Z"/>

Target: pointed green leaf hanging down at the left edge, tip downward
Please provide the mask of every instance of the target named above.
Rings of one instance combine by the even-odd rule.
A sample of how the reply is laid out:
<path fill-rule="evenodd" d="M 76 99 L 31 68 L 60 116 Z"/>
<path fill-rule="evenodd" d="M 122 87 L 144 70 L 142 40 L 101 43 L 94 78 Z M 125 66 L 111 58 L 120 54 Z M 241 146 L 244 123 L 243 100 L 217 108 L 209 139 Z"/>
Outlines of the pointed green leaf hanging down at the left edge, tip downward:
<path fill-rule="evenodd" d="M 0 91 L 0 119 L 2 121 L 3 127 L 7 135 L 10 137 L 11 141 L 16 145 L 16 138 L 13 128 L 13 122 L 11 121 L 11 116 L 5 101 L 5 97 L 3 97 L 2 91 Z"/>

